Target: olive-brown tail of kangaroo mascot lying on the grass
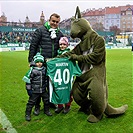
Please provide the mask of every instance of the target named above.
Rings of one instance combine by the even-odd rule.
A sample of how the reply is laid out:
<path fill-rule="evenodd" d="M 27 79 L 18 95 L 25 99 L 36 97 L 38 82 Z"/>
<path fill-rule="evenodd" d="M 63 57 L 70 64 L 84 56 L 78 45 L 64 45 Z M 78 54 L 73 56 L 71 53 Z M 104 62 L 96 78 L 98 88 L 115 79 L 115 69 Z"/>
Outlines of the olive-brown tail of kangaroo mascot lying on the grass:
<path fill-rule="evenodd" d="M 118 115 L 124 114 L 125 111 L 127 110 L 127 108 L 128 108 L 128 105 L 127 104 L 125 104 L 125 105 L 123 105 L 121 107 L 118 107 L 118 108 L 114 108 L 110 104 L 107 104 L 107 107 L 106 107 L 104 113 L 108 117 L 118 116 Z"/>

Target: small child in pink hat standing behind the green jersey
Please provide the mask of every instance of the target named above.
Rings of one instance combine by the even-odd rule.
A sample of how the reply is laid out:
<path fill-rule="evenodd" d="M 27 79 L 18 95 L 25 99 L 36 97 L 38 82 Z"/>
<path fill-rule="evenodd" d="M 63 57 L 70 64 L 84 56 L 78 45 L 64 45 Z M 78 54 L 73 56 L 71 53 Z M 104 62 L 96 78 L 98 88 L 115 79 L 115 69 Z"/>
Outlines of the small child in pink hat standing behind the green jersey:
<path fill-rule="evenodd" d="M 61 54 L 64 54 L 65 52 L 70 51 L 68 46 L 69 46 L 69 43 L 68 43 L 67 37 L 61 37 L 59 40 L 59 50 L 57 51 L 58 55 L 61 55 Z M 70 105 L 72 101 L 73 101 L 73 97 L 72 97 L 72 94 L 70 94 L 70 101 L 65 104 L 65 108 L 63 104 L 58 104 L 58 107 L 55 109 L 55 113 L 58 114 L 64 109 L 63 113 L 67 114 L 70 111 Z"/>

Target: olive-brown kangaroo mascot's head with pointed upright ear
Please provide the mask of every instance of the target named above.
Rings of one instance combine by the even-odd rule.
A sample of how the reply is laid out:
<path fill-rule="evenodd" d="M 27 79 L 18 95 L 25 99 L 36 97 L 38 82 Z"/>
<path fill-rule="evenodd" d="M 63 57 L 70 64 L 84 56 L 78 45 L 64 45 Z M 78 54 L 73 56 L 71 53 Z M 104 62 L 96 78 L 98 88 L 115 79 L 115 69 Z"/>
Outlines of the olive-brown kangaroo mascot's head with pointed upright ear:
<path fill-rule="evenodd" d="M 89 22 L 81 17 L 79 7 L 76 8 L 75 17 L 71 19 L 71 32 L 72 38 L 82 38 L 88 31 L 92 31 Z"/>

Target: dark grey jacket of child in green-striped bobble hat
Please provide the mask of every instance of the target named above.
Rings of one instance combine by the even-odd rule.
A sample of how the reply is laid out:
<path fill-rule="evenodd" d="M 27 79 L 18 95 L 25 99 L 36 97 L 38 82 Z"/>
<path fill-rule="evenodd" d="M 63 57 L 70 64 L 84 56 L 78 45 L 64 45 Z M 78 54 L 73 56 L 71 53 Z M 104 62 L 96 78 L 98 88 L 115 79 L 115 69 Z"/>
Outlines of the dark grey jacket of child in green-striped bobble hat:
<path fill-rule="evenodd" d="M 37 67 L 33 68 L 30 75 L 32 93 L 43 93 L 46 91 L 47 81 L 45 78 L 46 67 L 40 69 Z"/>

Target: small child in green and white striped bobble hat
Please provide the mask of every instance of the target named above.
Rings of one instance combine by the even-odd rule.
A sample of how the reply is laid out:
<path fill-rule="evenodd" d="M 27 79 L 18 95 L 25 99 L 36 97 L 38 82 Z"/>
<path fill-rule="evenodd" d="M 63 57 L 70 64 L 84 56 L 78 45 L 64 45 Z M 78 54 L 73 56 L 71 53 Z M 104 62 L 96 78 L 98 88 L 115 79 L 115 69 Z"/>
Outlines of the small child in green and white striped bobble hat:
<path fill-rule="evenodd" d="M 31 120 L 31 111 L 33 106 L 35 105 L 38 97 L 42 97 L 43 103 L 44 103 L 44 113 L 47 116 L 52 116 L 52 114 L 49 111 L 49 95 L 46 90 L 46 67 L 44 67 L 44 57 L 40 55 L 40 53 L 37 53 L 34 56 L 34 62 L 36 66 L 32 67 L 32 71 L 30 73 L 30 83 L 31 83 L 31 89 L 32 89 L 32 95 L 29 97 L 26 111 L 25 111 L 25 120 L 30 121 Z"/>

